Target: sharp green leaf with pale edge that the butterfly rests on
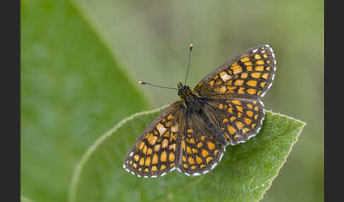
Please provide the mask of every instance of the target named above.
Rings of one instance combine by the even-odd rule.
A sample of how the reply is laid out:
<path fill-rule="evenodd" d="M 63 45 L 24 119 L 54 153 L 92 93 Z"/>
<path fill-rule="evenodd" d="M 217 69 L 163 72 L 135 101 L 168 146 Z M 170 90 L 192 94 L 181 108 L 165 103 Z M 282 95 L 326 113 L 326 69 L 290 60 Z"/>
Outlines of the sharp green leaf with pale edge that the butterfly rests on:
<path fill-rule="evenodd" d="M 163 107 L 164 108 L 164 107 Z M 260 133 L 227 146 L 208 174 L 188 177 L 178 171 L 145 179 L 122 168 L 134 140 L 163 108 L 122 120 L 88 148 L 69 187 L 75 201 L 258 201 L 278 174 L 305 123 L 267 112 Z"/>

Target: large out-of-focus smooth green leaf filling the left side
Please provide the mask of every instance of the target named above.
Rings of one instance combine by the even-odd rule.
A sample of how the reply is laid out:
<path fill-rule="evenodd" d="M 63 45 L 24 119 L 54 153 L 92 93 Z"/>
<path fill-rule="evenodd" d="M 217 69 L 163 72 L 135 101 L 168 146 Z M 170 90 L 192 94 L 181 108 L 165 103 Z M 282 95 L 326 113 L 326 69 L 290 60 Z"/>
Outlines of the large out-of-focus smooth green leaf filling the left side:
<path fill-rule="evenodd" d="M 21 1 L 21 194 L 66 201 L 91 143 L 147 109 L 130 79 L 69 1 Z"/>

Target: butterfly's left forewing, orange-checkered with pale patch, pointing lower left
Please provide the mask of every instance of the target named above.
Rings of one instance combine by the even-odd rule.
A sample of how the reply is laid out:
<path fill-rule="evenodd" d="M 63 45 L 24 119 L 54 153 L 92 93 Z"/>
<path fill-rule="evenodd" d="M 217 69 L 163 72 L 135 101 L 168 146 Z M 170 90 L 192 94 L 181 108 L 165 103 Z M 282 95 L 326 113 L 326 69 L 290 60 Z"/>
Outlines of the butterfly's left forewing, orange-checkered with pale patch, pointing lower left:
<path fill-rule="evenodd" d="M 159 177 L 174 170 L 184 117 L 180 101 L 166 108 L 130 148 L 123 165 L 125 170 L 138 177 Z"/>

